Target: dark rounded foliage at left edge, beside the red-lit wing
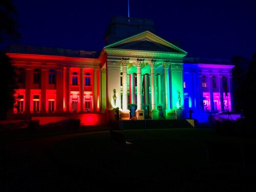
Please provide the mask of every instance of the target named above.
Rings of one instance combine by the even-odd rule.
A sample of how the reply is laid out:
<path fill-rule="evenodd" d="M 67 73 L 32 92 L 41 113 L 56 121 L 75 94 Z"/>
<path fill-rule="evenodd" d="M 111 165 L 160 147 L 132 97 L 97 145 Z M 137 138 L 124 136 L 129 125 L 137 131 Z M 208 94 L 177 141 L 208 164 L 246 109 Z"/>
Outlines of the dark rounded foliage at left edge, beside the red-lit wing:
<path fill-rule="evenodd" d="M 14 89 L 16 88 L 15 67 L 11 65 L 11 59 L 0 51 L 0 119 L 5 119 L 7 112 L 13 108 Z"/>

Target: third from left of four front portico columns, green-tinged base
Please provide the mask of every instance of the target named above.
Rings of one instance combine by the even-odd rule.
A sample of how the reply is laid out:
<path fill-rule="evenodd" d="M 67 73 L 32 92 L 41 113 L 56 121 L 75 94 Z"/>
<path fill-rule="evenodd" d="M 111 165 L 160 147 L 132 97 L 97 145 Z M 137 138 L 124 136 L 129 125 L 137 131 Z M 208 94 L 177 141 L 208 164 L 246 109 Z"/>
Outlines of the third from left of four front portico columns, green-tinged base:
<path fill-rule="evenodd" d="M 151 118 L 152 119 L 159 119 L 159 111 L 156 109 L 156 102 L 155 102 L 155 65 L 156 60 L 152 59 L 150 62 L 151 66 Z"/>

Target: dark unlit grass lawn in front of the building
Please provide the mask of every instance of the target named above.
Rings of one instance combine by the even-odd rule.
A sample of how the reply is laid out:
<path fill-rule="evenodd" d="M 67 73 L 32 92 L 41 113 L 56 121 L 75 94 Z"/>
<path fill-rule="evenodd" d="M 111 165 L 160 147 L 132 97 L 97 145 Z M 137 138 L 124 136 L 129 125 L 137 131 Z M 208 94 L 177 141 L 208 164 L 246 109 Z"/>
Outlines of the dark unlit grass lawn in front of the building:
<path fill-rule="evenodd" d="M 103 131 L 62 140 L 51 152 L 64 169 L 89 175 L 96 183 L 112 187 L 136 186 L 143 191 L 232 191 L 245 186 L 251 191 L 256 189 L 252 182 L 256 179 L 255 163 L 245 166 L 245 155 L 241 157 L 239 150 L 242 145 L 256 146 L 253 138 L 217 136 L 210 130 L 197 129 L 119 132 L 134 143 L 126 150 L 113 145 L 110 133 Z M 223 148 L 227 151 L 221 155 L 211 153 L 211 143 L 221 144 L 217 152 Z M 231 148 L 225 148 L 225 144 Z M 218 161 L 226 154 L 231 160 Z"/>

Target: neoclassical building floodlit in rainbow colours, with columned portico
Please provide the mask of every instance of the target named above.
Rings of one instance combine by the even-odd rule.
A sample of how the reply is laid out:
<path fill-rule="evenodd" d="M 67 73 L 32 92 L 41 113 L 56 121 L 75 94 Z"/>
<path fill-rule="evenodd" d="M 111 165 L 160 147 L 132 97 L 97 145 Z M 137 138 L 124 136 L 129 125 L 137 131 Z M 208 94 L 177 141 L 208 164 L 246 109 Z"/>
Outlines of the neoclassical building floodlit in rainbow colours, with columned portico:
<path fill-rule="evenodd" d="M 10 47 L 18 74 L 11 116 L 103 124 L 232 111 L 230 63 L 187 58 L 151 19 L 113 17 L 105 39 L 99 53 Z"/>

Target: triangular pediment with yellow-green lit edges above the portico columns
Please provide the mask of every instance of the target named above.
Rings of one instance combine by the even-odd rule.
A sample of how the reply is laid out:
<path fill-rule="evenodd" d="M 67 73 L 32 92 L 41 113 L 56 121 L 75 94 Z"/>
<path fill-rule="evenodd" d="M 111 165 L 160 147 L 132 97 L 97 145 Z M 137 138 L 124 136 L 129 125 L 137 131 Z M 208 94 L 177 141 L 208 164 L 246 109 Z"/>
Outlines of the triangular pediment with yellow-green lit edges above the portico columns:
<path fill-rule="evenodd" d="M 156 51 L 187 54 L 187 52 L 155 35 L 154 33 L 151 33 L 150 31 L 145 31 L 132 37 L 120 40 L 114 44 L 106 46 L 104 49 Z"/>

